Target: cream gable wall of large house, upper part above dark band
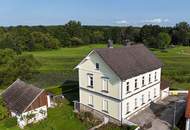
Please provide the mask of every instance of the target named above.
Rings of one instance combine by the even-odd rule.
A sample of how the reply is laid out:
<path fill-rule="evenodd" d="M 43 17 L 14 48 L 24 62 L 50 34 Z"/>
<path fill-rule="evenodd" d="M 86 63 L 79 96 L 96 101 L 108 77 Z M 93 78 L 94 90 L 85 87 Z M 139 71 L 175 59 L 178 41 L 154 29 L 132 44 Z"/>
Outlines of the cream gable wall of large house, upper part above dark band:
<path fill-rule="evenodd" d="M 96 63 L 99 63 L 100 70 L 96 70 Z M 93 74 L 93 88 L 87 87 L 88 73 Z M 109 78 L 108 93 L 102 92 L 102 77 Z M 88 60 L 79 66 L 79 87 L 120 99 L 120 86 L 121 80 L 119 77 L 104 63 L 104 61 L 95 52 L 88 57 Z"/>

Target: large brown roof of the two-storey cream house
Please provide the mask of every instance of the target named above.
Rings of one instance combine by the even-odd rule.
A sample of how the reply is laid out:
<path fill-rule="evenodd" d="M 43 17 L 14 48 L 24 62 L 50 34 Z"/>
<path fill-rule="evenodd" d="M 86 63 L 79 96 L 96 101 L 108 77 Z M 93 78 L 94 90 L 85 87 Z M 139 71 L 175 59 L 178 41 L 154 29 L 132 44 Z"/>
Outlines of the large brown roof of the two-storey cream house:
<path fill-rule="evenodd" d="M 122 80 L 162 67 L 161 61 L 143 44 L 94 51 Z"/>

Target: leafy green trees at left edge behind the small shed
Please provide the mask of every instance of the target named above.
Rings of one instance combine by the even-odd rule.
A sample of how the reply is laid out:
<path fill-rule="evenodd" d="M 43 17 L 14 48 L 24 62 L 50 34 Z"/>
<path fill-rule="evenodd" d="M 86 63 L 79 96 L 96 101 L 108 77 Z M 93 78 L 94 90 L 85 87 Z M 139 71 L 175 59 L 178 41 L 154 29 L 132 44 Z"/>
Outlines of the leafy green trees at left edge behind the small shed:
<path fill-rule="evenodd" d="M 30 79 L 33 73 L 36 73 L 36 67 L 40 63 L 33 55 L 17 55 L 11 49 L 0 50 L 0 86 L 5 86 L 17 78 L 22 80 Z"/>

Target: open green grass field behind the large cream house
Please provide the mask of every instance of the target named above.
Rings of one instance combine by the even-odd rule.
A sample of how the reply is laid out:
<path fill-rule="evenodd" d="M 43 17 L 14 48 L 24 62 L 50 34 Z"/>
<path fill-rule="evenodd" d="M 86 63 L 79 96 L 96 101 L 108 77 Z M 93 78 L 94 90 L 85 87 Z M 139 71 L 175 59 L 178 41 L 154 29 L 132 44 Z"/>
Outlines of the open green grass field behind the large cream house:
<path fill-rule="evenodd" d="M 116 45 L 120 47 L 121 45 Z M 61 48 L 52 51 L 25 52 L 33 54 L 40 62 L 39 74 L 31 82 L 40 87 L 60 85 L 66 79 L 77 80 L 73 68 L 94 48 L 106 45 L 96 44 L 75 48 Z M 167 51 L 151 49 L 164 63 L 163 77 L 172 79 L 175 89 L 190 87 L 190 47 L 175 47 Z"/>

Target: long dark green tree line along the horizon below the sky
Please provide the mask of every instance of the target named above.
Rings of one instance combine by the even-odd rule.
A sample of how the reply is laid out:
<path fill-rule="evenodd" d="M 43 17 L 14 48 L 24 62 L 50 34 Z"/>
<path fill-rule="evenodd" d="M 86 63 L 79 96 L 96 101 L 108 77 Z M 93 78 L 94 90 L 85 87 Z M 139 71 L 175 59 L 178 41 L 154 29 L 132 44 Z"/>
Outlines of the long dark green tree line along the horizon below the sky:
<path fill-rule="evenodd" d="M 0 49 L 10 48 L 17 53 L 107 43 L 108 39 L 115 44 L 124 44 L 127 39 L 153 48 L 167 48 L 171 44 L 189 46 L 190 25 L 180 22 L 174 27 L 114 27 L 84 26 L 79 21 L 69 21 L 59 26 L 0 27 Z"/>

